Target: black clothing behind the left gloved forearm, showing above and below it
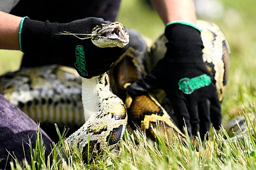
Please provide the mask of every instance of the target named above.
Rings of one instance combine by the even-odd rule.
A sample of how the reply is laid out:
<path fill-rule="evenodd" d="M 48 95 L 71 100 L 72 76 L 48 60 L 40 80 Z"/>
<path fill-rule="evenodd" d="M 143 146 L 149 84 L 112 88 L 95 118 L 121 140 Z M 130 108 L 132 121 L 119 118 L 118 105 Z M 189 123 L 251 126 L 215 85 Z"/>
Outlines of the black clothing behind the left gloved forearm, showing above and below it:
<path fill-rule="evenodd" d="M 121 0 L 20 0 L 10 14 L 30 19 L 58 23 L 68 23 L 86 17 L 101 17 L 115 21 Z M 25 53 L 21 67 L 37 67 L 62 64 L 60 56 L 52 56 L 47 51 Z"/>

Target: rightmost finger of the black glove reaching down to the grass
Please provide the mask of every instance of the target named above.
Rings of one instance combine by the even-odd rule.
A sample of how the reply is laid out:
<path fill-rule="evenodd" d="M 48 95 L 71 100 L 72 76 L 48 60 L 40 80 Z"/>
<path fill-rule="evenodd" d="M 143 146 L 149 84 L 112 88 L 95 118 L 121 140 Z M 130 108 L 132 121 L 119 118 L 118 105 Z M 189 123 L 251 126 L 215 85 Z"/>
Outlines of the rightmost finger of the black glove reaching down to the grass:
<path fill-rule="evenodd" d="M 221 108 L 218 95 L 216 93 L 215 97 L 210 100 L 210 119 L 212 122 L 212 126 L 219 130 L 221 126 Z"/>

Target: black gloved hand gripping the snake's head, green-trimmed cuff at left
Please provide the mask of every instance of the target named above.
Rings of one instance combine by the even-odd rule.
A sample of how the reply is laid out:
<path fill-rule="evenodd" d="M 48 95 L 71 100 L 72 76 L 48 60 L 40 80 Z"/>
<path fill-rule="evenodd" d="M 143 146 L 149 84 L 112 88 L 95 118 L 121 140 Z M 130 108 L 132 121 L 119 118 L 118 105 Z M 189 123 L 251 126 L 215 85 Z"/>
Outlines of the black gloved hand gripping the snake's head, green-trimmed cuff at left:
<path fill-rule="evenodd" d="M 91 34 L 92 28 L 101 24 L 110 24 L 102 18 L 88 17 L 70 23 L 50 23 L 24 18 L 20 25 L 19 43 L 25 53 L 46 52 L 54 57 L 61 56 L 61 63 L 73 66 L 80 76 L 91 78 L 110 69 L 112 63 L 124 53 L 124 48 L 99 48 L 91 39 L 79 39 L 72 34 Z M 35 56 L 36 57 L 36 56 Z"/>

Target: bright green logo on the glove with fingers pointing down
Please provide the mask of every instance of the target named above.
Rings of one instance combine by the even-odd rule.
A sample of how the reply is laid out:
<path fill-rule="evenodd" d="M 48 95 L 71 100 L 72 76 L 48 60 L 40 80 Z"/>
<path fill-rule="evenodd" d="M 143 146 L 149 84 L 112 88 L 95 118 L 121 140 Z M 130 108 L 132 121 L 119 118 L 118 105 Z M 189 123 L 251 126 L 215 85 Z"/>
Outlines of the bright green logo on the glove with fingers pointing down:
<path fill-rule="evenodd" d="M 203 74 L 201 76 L 196 76 L 194 78 L 182 78 L 180 79 L 178 85 L 179 89 L 185 94 L 191 94 L 194 90 L 200 89 L 210 85 L 210 76 Z"/>

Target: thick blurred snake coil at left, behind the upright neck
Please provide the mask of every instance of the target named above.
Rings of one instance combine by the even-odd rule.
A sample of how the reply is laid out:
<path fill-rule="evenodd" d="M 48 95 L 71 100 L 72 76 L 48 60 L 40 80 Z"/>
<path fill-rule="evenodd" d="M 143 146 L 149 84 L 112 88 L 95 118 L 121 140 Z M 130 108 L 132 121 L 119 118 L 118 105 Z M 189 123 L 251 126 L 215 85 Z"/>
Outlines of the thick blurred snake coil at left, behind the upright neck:
<path fill-rule="evenodd" d="M 0 77 L 0 93 L 42 123 L 82 126 L 81 86 L 73 68 L 57 65 L 23 68 Z"/>

